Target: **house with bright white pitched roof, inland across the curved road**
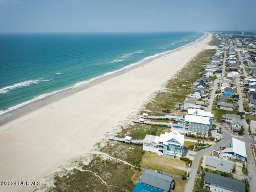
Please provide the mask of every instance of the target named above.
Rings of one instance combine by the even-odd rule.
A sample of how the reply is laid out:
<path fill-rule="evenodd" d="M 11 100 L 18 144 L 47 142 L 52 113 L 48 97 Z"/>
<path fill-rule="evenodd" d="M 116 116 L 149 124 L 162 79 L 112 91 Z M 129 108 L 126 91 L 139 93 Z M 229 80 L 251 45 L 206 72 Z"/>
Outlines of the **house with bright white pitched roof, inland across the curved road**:
<path fill-rule="evenodd" d="M 245 143 L 233 137 L 230 147 L 222 150 L 220 152 L 220 156 L 222 158 L 231 158 L 245 161 L 247 157 Z"/>

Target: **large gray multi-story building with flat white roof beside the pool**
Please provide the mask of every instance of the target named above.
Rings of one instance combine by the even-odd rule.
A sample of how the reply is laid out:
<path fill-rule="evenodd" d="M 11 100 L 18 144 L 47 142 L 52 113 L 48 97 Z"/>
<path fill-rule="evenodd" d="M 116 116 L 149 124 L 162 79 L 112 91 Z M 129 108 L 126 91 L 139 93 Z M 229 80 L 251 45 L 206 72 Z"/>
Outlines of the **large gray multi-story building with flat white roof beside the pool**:
<path fill-rule="evenodd" d="M 186 115 L 185 116 L 185 130 L 188 130 L 189 134 L 202 134 L 208 137 L 210 126 L 210 117 L 198 116 L 198 115 Z"/>

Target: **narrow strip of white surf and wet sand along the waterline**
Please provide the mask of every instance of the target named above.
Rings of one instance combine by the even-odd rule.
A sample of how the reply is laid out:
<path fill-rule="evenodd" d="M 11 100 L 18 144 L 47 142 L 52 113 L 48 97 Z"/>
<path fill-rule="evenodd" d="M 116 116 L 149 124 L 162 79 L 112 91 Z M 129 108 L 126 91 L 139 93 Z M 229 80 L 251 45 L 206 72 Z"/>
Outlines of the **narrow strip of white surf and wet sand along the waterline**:
<path fill-rule="evenodd" d="M 130 70 L 132 70 L 136 67 L 147 64 L 148 62 L 150 62 L 154 59 L 157 59 L 157 58 L 160 58 L 162 56 L 171 54 L 172 52 L 175 52 L 175 51 L 178 51 L 178 50 L 182 50 L 183 48 L 185 48 L 187 46 L 190 46 L 192 44 L 195 44 L 197 42 L 202 41 L 204 38 L 207 37 L 207 34 L 209 34 L 209 33 L 204 32 L 204 35 L 202 37 L 196 39 L 194 42 L 191 42 L 191 43 L 186 44 L 184 46 L 180 46 L 180 47 L 178 47 L 174 50 L 168 50 L 168 51 L 165 51 L 165 52 L 157 53 L 156 54 L 157 56 L 155 56 L 155 55 L 148 56 L 146 58 L 143 58 L 142 60 L 139 60 L 136 63 L 129 64 L 128 66 L 124 66 L 123 68 L 120 68 L 118 70 L 108 72 L 108 73 L 102 74 L 100 76 L 93 77 L 89 80 L 84 80 L 84 81 L 81 81 L 81 82 L 77 82 L 76 84 L 74 84 L 74 86 L 67 87 L 67 88 L 64 88 L 62 90 L 56 90 L 56 91 L 51 92 L 51 93 L 46 93 L 47 96 L 43 96 L 45 94 L 36 96 L 32 100 L 28 100 L 26 102 L 17 104 L 16 106 L 12 106 L 12 107 L 10 107 L 6 110 L 2 110 L 2 111 L 0 111 L 0 126 L 4 122 L 6 122 L 8 120 L 12 120 L 12 118 L 20 116 L 23 113 L 29 112 L 31 110 L 34 110 L 35 108 L 40 107 L 41 105 L 44 105 L 48 102 L 54 102 L 54 100 L 61 99 L 62 97 L 69 96 L 70 94 L 74 94 L 74 93 L 76 93 L 80 90 L 86 89 L 90 86 L 94 86 L 95 84 L 103 82 L 104 80 L 107 80 L 108 78 L 118 76 L 118 75 L 123 74 L 125 72 L 128 72 L 128 71 L 130 71 Z M 82 84 L 80 84 L 80 83 L 82 83 Z M 4 131 L 4 130 L 0 129 L 0 133 L 2 131 Z"/>

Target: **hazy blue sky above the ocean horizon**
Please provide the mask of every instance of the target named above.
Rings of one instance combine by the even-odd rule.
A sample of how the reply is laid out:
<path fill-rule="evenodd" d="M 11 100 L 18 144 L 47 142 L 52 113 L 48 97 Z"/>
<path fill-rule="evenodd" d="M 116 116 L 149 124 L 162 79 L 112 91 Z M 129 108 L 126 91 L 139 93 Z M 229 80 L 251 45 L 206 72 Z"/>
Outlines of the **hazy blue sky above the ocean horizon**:
<path fill-rule="evenodd" d="M 256 30 L 256 0 L 0 0 L 0 32 Z"/>

